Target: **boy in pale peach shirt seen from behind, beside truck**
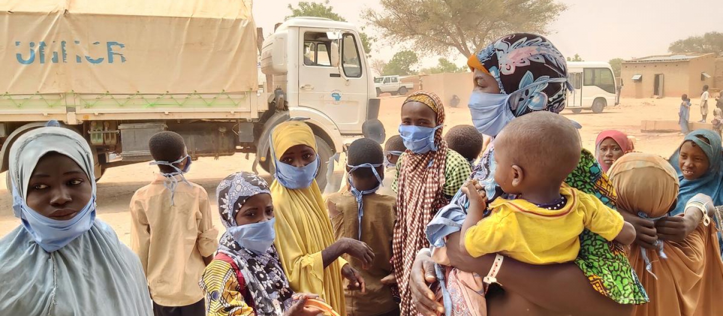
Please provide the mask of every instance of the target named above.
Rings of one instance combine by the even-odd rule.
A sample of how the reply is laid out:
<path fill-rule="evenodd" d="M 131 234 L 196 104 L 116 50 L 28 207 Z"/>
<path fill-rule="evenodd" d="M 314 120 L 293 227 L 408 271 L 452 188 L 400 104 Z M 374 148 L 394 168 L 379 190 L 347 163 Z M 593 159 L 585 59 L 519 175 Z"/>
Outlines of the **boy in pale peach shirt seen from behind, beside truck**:
<path fill-rule="evenodd" d="M 208 193 L 184 177 L 191 157 L 178 133 L 157 133 L 148 147 L 161 173 L 131 200 L 131 244 L 148 279 L 153 312 L 205 315 L 198 280 L 218 246 Z"/>

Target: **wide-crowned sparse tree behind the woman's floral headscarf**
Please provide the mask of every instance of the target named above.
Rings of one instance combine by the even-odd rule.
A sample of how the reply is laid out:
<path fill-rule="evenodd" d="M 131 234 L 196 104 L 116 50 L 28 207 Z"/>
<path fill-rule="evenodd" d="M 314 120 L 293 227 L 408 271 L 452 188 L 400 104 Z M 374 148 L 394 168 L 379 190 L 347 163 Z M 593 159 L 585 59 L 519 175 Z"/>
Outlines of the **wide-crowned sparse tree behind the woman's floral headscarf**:
<path fill-rule="evenodd" d="M 557 0 L 381 0 L 367 9 L 371 25 L 389 42 L 410 42 L 415 51 L 465 57 L 511 32 L 545 34 L 567 9 Z"/>

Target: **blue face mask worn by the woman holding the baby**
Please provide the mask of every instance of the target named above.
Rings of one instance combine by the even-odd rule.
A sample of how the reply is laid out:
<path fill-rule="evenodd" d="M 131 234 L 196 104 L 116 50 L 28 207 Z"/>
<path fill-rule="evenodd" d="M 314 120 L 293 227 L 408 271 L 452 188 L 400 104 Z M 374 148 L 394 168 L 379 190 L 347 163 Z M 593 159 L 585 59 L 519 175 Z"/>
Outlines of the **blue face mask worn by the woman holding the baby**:
<path fill-rule="evenodd" d="M 518 105 L 524 106 L 532 96 L 524 96 L 522 97 L 522 100 L 517 100 L 518 95 L 521 95 L 523 92 L 542 84 L 556 82 L 566 83 L 567 81 L 567 78 L 540 80 L 539 82 L 529 84 L 522 89 L 518 89 L 509 95 L 505 95 L 504 93 L 493 94 L 474 91 L 469 97 L 469 112 L 472 115 L 472 123 L 479 133 L 483 133 L 487 136 L 497 136 L 497 134 L 502 131 L 502 128 L 505 128 L 505 126 L 507 126 L 507 124 L 515 118 L 512 110 L 510 110 L 510 100 L 515 100 Z M 545 104 L 547 104 L 547 100 L 545 101 Z M 544 106 L 532 110 L 542 109 L 544 109 Z"/>

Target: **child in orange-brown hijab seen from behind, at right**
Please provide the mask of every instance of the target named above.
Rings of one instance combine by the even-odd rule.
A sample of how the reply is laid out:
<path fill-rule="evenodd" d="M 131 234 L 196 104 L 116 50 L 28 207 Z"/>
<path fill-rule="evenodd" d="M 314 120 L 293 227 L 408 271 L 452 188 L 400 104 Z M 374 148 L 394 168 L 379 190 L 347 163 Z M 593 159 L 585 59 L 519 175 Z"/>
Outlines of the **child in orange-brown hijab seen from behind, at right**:
<path fill-rule="evenodd" d="M 625 154 L 612 165 L 609 176 L 621 212 L 629 211 L 655 222 L 675 209 L 678 177 L 661 157 Z M 719 303 L 723 262 L 715 223 L 709 219 L 712 200 L 699 194 L 686 203 L 685 214 L 679 216 L 697 223 L 687 237 L 658 240 L 656 249 L 645 249 L 637 243 L 630 246 L 630 265 L 650 297 L 648 304 L 634 307 L 634 316 L 723 315 L 723 304 Z M 661 228 L 656 229 L 660 233 Z"/>

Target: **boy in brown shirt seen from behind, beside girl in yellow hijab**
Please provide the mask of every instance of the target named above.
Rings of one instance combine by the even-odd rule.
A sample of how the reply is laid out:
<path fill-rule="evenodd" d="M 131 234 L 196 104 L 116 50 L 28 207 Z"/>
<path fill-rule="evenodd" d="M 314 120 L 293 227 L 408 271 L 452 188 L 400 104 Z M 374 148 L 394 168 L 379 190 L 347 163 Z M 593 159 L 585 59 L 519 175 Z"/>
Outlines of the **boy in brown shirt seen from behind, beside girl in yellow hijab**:
<path fill-rule="evenodd" d="M 396 198 L 377 194 L 384 180 L 382 146 L 372 139 L 357 139 L 348 149 L 348 188 L 327 199 L 334 237 L 365 242 L 374 250 L 372 264 L 347 258 L 366 281 L 366 293 L 346 291 L 349 316 L 399 315 L 389 284 L 395 283 L 390 259 Z"/>

